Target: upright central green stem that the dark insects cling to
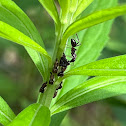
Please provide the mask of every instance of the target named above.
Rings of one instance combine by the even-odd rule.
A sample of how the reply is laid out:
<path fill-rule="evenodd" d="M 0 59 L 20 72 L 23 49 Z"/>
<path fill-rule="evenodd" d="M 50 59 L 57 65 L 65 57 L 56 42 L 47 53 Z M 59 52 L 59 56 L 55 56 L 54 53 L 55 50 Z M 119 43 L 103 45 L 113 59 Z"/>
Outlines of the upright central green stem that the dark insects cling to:
<path fill-rule="evenodd" d="M 64 25 L 63 26 L 62 25 L 60 25 L 60 26 L 55 25 L 56 40 L 55 40 L 53 57 L 52 57 L 53 64 L 54 64 L 56 58 L 59 60 L 62 53 L 63 53 L 63 50 L 62 50 L 60 52 L 60 55 L 57 55 L 58 54 L 57 51 L 59 50 L 59 44 L 60 44 L 61 37 L 63 34 L 63 29 L 64 29 Z M 53 64 L 52 64 L 52 67 L 53 67 Z M 52 67 L 49 68 L 49 72 L 52 70 Z M 57 75 L 55 75 L 55 83 L 53 85 L 50 85 L 50 84 L 47 85 L 47 90 L 44 93 L 39 94 L 37 103 L 40 103 L 40 104 L 47 106 L 47 107 L 50 107 L 50 104 L 51 104 L 53 95 L 55 93 L 56 87 L 60 84 L 62 79 L 63 78 L 58 79 Z"/>

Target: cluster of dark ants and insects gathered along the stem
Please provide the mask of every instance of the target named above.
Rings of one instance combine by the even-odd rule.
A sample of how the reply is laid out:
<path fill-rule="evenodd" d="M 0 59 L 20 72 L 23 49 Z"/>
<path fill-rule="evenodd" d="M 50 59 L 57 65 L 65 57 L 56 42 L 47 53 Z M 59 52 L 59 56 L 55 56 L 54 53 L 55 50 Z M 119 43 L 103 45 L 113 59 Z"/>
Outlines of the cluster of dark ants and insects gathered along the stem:
<path fill-rule="evenodd" d="M 66 55 L 63 53 L 62 57 L 60 58 L 60 61 L 58 62 L 58 60 L 56 59 L 54 66 L 53 66 L 53 70 L 52 72 L 50 72 L 50 80 L 49 80 L 49 84 L 53 85 L 54 83 L 54 74 L 57 74 L 57 76 L 64 76 L 64 71 L 66 70 L 67 66 L 70 65 L 71 62 L 75 62 L 76 60 L 76 53 L 75 51 L 77 50 L 75 47 L 79 46 L 79 38 L 78 35 L 76 34 L 78 42 L 75 41 L 75 39 L 71 39 L 71 56 L 72 59 L 71 60 L 67 60 L 66 59 Z M 44 93 L 44 90 L 47 86 L 47 82 L 43 83 L 39 92 Z M 53 98 L 56 97 L 57 92 L 59 89 L 62 88 L 62 82 L 59 84 L 59 86 L 56 88 L 56 91 L 54 93 Z"/>

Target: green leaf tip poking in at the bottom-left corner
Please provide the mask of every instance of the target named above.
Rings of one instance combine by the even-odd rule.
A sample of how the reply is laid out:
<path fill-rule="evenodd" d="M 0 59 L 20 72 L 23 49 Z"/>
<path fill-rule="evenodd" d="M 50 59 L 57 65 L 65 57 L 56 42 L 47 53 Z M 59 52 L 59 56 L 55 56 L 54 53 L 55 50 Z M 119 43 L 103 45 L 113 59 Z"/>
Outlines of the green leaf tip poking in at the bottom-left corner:
<path fill-rule="evenodd" d="M 4 101 L 4 99 L 0 96 L 0 123 L 3 125 L 7 125 L 15 118 L 15 114 L 8 106 L 8 104 Z"/>

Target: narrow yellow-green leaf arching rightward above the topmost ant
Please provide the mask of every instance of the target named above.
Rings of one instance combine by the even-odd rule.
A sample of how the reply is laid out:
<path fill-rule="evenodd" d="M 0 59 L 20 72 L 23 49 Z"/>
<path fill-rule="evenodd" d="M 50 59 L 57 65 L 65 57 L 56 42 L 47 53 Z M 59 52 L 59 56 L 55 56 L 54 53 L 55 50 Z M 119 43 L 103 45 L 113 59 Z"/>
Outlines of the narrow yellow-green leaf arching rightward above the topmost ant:
<path fill-rule="evenodd" d="M 123 14 L 126 14 L 126 5 L 97 11 L 84 18 L 79 19 L 66 29 L 60 44 L 60 48 L 64 50 L 66 40 L 70 35 L 73 35 L 93 25 L 121 16 Z"/>

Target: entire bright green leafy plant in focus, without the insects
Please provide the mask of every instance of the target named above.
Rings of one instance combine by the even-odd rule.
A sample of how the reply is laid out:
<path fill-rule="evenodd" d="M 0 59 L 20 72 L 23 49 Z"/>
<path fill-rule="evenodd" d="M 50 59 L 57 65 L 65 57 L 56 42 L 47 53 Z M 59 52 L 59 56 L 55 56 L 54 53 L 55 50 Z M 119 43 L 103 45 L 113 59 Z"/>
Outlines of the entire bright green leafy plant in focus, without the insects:
<path fill-rule="evenodd" d="M 40 85 L 39 87 L 34 85 L 38 94 L 37 102 L 29 103 L 29 106 L 17 116 L 0 96 L 0 123 L 5 126 L 59 126 L 69 109 L 126 93 L 126 55 L 97 60 L 109 40 L 113 19 L 126 14 L 126 4 L 118 5 L 117 0 L 39 0 L 39 2 L 54 21 L 55 44 L 51 51 L 52 55 L 45 48 L 46 42 L 43 42 L 36 27 L 20 7 L 12 0 L 0 0 L 0 37 L 22 45 L 40 72 L 42 83 L 47 82 L 46 90 L 39 93 L 37 89 Z M 71 49 L 67 49 L 66 46 L 70 45 L 70 39 L 75 38 L 76 33 L 80 41 L 80 46 L 76 47 L 76 61 L 73 65 L 69 62 L 70 65 L 63 77 L 53 73 L 54 82 L 49 84 L 50 72 L 56 59 L 60 62 L 63 53 L 66 56 L 71 55 Z M 124 47 L 118 41 L 116 44 L 115 48 L 109 44 L 107 47 L 111 50 Z M 31 73 L 34 73 L 28 63 L 24 65 L 25 69 L 28 66 Z M 0 83 L 8 85 L 12 83 L 6 76 L 1 76 L 5 79 L 1 79 Z M 26 76 L 26 80 L 27 77 L 32 78 L 29 75 Z M 57 86 L 62 81 L 62 89 L 58 90 L 57 96 L 53 98 Z M 18 88 L 23 90 L 25 87 L 21 84 L 20 87 L 15 86 L 17 86 L 15 90 Z M 29 93 L 30 89 L 24 92 Z M 20 99 L 20 95 L 16 93 L 12 93 L 12 97 Z M 9 95 L 11 97 L 11 93 Z M 115 98 L 114 101 L 115 104 L 116 101 L 126 104 L 124 99 Z M 111 100 L 108 102 L 111 103 Z"/>

